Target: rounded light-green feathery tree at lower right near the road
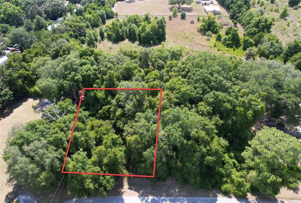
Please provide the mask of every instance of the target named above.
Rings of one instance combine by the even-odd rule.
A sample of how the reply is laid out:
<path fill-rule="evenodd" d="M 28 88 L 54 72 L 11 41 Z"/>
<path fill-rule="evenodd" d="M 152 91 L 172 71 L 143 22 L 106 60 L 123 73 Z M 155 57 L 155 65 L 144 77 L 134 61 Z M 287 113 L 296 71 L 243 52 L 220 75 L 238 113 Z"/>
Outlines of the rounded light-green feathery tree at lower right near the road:
<path fill-rule="evenodd" d="M 296 138 L 265 126 L 249 144 L 242 156 L 251 168 L 250 182 L 260 192 L 274 196 L 282 187 L 294 189 L 299 185 L 301 144 Z"/>

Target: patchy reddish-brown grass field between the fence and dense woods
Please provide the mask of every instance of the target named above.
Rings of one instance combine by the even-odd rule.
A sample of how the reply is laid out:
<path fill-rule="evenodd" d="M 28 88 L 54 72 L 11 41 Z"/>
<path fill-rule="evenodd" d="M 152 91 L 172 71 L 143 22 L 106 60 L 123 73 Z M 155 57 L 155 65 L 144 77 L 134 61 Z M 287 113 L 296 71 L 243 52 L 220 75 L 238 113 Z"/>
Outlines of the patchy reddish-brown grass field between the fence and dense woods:
<path fill-rule="evenodd" d="M 190 20 L 194 20 L 194 24 L 190 23 Z M 107 24 L 110 24 L 113 19 L 108 20 Z M 222 17 L 221 19 L 216 19 L 217 23 L 222 22 L 224 24 L 224 28 L 222 29 L 222 33 L 225 33 L 225 30 L 228 26 L 234 26 L 232 21 L 228 16 Z M 223 54 L 231 54 L 237 55 L 239 57 L 244 56 L 244 54 L 237 54 L 239 50 L 233 51 L 231 48 L 226 48 L 221 45 L 220 51 L 218 51 L 218 47 L 213 47 L 214 37 L 211 41 L 206 40 L 206 36 L 197 32 L 197 17 L 186 17 L 185 20 L 181 20 L 180 17 L 172 18 L 172 20 L 168 20 L 166 18 L 166 41 L 165 46 L 183 46 L 188 48 L 191 52 L 193 51 L 203 51 L 209 50 L 213 53 L 223 53 Z M 237 24 L 237 28 L 240 36 L 243 35 L 244 29 Z M 160 44 L 154 45 L 152 47 L 160 46 Z M 104 41 L 98 42 L 97 49 L 102 50 L 104 53 L 117 53 L 120 49 L 141 49 L 141 47 L 147 47 L 145 45 L 139 44 L 138 41 L 133 42 L 126 39 L 125 41 L 121 41 L 118 43 L 112 43 L 108 41 L 106 38 Z"/>

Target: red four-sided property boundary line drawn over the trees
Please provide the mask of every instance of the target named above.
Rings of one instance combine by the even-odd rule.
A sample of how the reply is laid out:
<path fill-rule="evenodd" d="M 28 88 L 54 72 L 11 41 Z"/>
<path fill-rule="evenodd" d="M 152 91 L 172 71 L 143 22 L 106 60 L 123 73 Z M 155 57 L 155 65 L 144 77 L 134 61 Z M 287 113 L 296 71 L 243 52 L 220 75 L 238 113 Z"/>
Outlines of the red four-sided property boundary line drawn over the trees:
<path fill-rule="evenodd" d="M 153 175 L 108 174 L 108 173 L 85 173 L 85 172 L 71 172 L 71 171 L 64 171 L 65 164 L 66 164 L 66 159 L 67 159 L 67 155 L 68 155 L 68 151 L 69 151 L 69 147 L 70 147 L 70 143 L 71 143 L 71 139 L 72 139 L 72 135 L 73 135 L 73 131 L 74 131 L 76 119 L 77 119 L 77 115 L 78 115 L 78 112 L 79 112 L 80 103 L 82 102 L 82 95 L 83 95 L 83 93 L 84 93 L 84 90 L 160 90 L 159 115 L 158 115 L 158 124 L 157 124 L 157 137 L 156 137 L 156 147 L 155 147 L 155 159 L 154 159 L 154 170 L 153 170 Z M 78 108 L 77 108 L 75 120 L 74 120 L 74 123 L 73 123 L 73 128 L 72 128 L 72 131 L 71 131 L 71 136 L 70 136 L 69 144 L 68 144 L 68 147 L 67 147 L 66 156 L 65 156 L 65 159 L 64 159 L 64 164 L 63 164 L 63 168 L 62 168 L 62 173 L 91 174 L 91 175 L 113 175 L 113 176 L 132 176 L 132 177 L 155 177 L 156 156 L 157 156 L 157 145 L 158 145 L 158 134 L 159 134 L 159 123 L 160 123 L 160 111 L 161 111 L 161 100 L 162 100 L 162 89 L 152 89 L 152 88 L 150 88 L 150 89 L 148 89 L 148 88 L 83 88 L 83 89 L 82 89 L 82 94 L 81 94 L 81 96 L 80 96 L 79 105 L 78 105 Z"/>

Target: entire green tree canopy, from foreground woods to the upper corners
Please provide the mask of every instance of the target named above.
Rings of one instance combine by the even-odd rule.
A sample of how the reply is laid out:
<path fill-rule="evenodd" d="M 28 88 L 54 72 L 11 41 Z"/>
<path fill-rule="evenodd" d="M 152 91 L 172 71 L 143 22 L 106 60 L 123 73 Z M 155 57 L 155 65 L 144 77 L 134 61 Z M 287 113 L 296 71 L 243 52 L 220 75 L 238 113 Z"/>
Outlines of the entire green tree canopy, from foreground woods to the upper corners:
<path fill-rule="evenodd" d="M 238 196 L 254 191 L 275 196 L 299 185 L 300 142 L 275 128 L 256 134 L 250 129 L 266 114 L 301 122 L 301 40 L 283 46 L 270 32 L 273 20 L 250 11 L 250 1 L 221 0 L 244 27 L 243 38 L 231 26 L 223 36 L 213 14 L 197 26 L 233 49 L 257 46 L 261 58 L 254 51 L 254 60 L 247 61 L 168 47 L 164 17 L 146 13 L 112 20 L 114 0 L 81 6 L 56 0 L 0 3 L 5 23 L 0 51 L 15 44 L 20 49 L 0 66 L 0 107 L 24 95 L 55 101 L 45 118 L 11 129 L 3 158 L 24 189 L 53 189 L 62 180 L 81 94 L 64 170 L 152 175 L 160 91 L 82 92 L 87 87 L 163 89 L 153 182 L 172 176 L 194 188 L 217 187 Z M 57 17 L 60 24 L 51 22 Z M 107 54 L 95 49 L 104 38 L 112 43 L 128 38 L 139 46 Z M 116 184 L 114 176 L 64 177 L 69 194 L 78 198 L 104 196 Z"/>

